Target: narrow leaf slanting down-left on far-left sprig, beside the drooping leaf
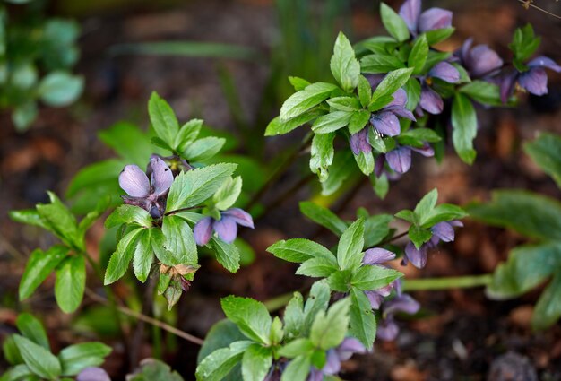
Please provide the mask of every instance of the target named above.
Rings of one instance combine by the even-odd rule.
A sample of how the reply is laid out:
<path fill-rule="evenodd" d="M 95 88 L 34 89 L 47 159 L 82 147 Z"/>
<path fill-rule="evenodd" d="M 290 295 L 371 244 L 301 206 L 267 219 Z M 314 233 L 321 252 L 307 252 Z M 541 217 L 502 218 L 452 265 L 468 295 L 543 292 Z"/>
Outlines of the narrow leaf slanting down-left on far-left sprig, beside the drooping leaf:
<path fill-rule="evenodd" d="M 45 252 L 41 249 L 33 250 L 20 281 L 20 300 L 28 299 L 67 254 L 68 247 L 63 246 L 50 247 Z"/>

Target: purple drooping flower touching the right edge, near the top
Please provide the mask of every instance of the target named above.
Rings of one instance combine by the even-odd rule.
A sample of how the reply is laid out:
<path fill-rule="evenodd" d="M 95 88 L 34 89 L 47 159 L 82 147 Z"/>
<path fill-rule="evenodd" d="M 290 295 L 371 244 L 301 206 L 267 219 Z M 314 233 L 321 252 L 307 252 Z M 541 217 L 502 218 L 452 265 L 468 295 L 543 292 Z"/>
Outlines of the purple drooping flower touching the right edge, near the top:
<path fill-rule="evenodd" d="M 561 73 L 561 66 L 547 56 L 539 56 L 528 63 L 528 70 L 513 70 L 503 75 L 500 81 L 501 100 L 505 103 L 518 85 L 521 89 L 534 95 L 548 93 L 548 74 L 545 69 Z"/>

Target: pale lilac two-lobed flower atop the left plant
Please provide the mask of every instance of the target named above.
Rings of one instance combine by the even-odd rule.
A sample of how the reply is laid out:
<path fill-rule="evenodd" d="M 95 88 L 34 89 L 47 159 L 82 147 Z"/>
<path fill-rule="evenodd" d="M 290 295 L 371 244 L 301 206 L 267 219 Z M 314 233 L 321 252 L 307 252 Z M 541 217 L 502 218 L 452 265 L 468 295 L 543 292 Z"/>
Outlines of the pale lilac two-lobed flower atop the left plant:
<path fill-rule="evenodd" d="M 152 157 L 148 167 L 150 181 L 137 165 L 125 166 L 119 175 L 119 186 L 128 194 L 123 196 L 125 203 L 145 209 L 152 218 L 160 218 L 166 209 L 166 196 L 173 183 L 173 173 L 159 157 Z"/>

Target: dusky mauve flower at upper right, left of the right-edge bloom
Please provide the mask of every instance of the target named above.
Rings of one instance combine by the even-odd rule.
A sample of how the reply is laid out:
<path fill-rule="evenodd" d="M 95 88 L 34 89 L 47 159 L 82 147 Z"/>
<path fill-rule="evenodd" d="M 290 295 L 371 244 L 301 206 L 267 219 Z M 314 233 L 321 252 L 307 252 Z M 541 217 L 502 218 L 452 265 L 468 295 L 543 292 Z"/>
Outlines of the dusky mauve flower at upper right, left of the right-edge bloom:
<path fill-rule="evenodd" d="M 496 54 L 496 51 L 487 45 L 478 45 L 471 48 L 473 39 L 466 39 L 455 56 L 460 60 L 471 78 L 481 78 L 496 74 L 503 66 L 503 60 Z"/>

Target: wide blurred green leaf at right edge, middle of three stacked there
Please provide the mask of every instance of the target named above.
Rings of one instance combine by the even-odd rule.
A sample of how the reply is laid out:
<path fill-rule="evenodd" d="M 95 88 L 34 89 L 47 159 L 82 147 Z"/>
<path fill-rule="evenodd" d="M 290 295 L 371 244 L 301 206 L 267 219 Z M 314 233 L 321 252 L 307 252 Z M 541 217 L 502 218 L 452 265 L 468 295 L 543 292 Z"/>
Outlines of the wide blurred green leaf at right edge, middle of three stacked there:
<path fill-rule="evenodd" d="M 468 205 L 470 216 L 539 239 L 561 239 L 561 203 L 523 190 L 493 192 L 489 203 Z"/>

